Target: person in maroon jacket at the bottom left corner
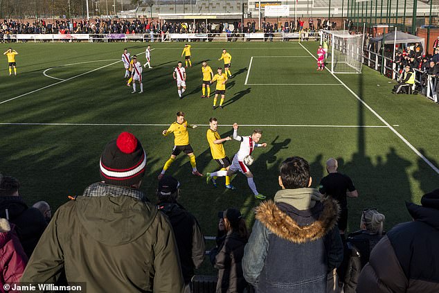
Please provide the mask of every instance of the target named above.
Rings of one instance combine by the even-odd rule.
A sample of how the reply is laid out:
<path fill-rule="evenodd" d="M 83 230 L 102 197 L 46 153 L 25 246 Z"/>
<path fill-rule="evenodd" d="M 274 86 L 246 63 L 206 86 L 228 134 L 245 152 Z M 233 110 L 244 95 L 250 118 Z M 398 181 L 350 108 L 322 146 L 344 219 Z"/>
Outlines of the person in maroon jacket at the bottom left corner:
<path fill-rule="evenodd" d="M 8 292 L 3 285 L 17 283 L 24 272 L 28 257 L 24 253 L 14 224 L 0 218 L 0 292 Z"/>

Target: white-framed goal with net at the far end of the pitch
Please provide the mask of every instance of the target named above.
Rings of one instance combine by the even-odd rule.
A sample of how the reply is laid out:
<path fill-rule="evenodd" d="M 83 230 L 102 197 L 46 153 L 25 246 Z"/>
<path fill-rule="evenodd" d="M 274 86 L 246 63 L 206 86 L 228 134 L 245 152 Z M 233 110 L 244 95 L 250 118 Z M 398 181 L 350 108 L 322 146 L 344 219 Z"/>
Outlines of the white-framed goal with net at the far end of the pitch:
<path fill-rule="evenodd" d="M 350 35 L 347 30 L 321 30 L 321 44 L 327 47 L 325 59 L 332 73 L 361 73 L 363 35 Z"/>

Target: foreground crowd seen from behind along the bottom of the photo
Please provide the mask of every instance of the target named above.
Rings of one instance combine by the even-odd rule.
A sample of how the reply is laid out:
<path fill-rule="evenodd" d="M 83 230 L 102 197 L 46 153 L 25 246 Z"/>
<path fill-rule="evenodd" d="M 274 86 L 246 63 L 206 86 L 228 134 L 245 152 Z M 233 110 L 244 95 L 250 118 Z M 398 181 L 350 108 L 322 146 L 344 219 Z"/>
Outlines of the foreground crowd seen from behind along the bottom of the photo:
<path fill-rule="evenodd" d="M 128 132 L 99 161 L 101 180 L 53 218 L 46 202 L 27 206 L 19 181 L 0 174 L 1 287 L 82 281 L 88 292 L 192 292 L 206 244 L 179 203 L 180 182 L 161 177 L 153 204 L 139 190 L 147 154 Z M 438 292 L 439 189 L 406 203 L 412 222 L 386 232 L 385 216 L 365 208 L 359 231 L 345 236 L 347 199 L 359 192 L 337 160 L 326 170 L 315 189 L 305 159 L 283 161 L 279 190 L 256 207 L 251 229 L 239 208 L 218 212 L 208 253 L 215 292 Z"/>

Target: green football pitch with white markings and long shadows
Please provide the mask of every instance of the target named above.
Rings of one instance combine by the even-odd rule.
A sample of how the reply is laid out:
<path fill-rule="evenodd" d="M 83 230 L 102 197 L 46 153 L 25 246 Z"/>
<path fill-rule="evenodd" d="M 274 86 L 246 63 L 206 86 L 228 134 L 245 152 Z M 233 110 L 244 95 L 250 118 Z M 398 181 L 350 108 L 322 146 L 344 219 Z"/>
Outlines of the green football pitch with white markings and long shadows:
<path fill-rule="evenodd" d="M 316 42 L 191 43 L 192 68 L 187 91 L 179 100 L 172 71 L 183 43 L 153 43 L 153 69 L 143 71 L 143 94 L 131 94 L 120 62 L 128 48 L 145 63 L 140 43 L 12 44 L 18 51 L 18 76 L 8 76 L 3 56 L 0 71 L 0 172 L 19 178 L 28 204 L 44 199 L 53 211 L 68 195 L 81 195 L 99 181 L 99 157 L 120 132 L 134 133 L 148 156 L 141 190 L 156 201 L 157 175 L 172 151 L 173 136 L 162 130 L 183 111 L 190 124 L 190 144 L 200 172 L 213 172 L 206 141 L 208 119 L 216 117 L 219 132 L 249 135 L 263 130 L 267 148 L 253 152 L 250 167 L 260 193 L 273 198 L 280 162 L 301 156 L 310 162 L 313 187 L 326 175 L 325 161 L 339 160 L 358 199 L 348 199 L 349 231 L 359 227 L 364 208 L 386 215 L 385 229 L 410 220 L 404 201 L 439 187 L 439 105 L 423 96 L 392 95 L 394 83 L 363 67 L 362 74 L 333 76 L 316 71 Z M 1 52 L 8 44 L 0 44 Z M 222 48 L 231 53 L 231 78 L 224 109 L 212 109 L 213 96 L 201 99 L 201 61 L 216 71 Z M 184 61 L 184 60 L 183 60 Z M 213 87 L 213 92 L 214 92 Z M 237 141 L 225 143 L 233 157 Z M 418 153 L 417 153 L 418 152 Z M 215 236 L 217 211 L 238 207 L 251 227 L 253 198 L 244 176 L 226 190 L 206 185 L 190 174 L 188 157 L 180 154 L 167 174 L 181 182 L 180 202 L 193 213 L 206 236 Z M 214 243 L 208 243 L 210 249 Z"/>

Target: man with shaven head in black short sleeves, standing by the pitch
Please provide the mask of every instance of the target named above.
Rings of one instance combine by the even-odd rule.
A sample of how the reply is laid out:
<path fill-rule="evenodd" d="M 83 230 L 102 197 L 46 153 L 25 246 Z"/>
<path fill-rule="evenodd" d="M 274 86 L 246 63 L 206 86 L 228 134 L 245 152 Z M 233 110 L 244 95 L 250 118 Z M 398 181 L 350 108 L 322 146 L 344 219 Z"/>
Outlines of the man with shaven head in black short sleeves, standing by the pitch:
<path fill-rule="evenodd" d="M 339 172 L 337 172 L 339 164 L 336 159 L 330 158 L 326 161 L 326 170 L 328 175 L 320 181 L 319 191 L 323 195 L 329 195 L 340 204 L 341 213 L 339 219 L 340 236 L 344 240 L 344 233 L 348 227 L 348 200 L 347 197 L 358 197 L 357 189 L 355 189 L 352 180 Z"/>

